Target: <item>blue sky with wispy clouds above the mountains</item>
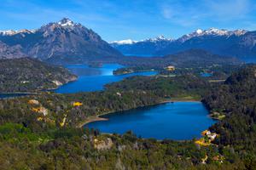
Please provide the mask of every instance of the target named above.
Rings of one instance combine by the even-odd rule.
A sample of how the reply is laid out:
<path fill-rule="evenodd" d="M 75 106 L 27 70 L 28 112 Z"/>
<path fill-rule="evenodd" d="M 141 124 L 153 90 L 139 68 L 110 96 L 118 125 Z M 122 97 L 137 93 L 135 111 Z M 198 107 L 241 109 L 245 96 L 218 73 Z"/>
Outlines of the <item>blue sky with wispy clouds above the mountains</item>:
<path fill-rule="evenodd" d="M 67 17 L 102 39 L 181 37 L 196 29 L 256 30 L 256 0 L 0 0 L 0 30 Z"/>

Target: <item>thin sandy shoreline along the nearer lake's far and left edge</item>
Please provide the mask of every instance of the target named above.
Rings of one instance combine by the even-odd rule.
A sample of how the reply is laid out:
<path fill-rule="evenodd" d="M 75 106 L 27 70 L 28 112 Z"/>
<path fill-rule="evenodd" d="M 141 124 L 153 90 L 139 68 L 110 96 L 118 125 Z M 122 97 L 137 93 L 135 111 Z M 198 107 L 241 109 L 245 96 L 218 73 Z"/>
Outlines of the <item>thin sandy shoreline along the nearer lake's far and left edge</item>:
<path fill-rule="evenodd" d="M 168 99 L 168 100 L 161 101 L 160 103 L 157 103 L 155 105 L 174 103 L 174 102 L 196 102 L 196 103 L 200 103 L 201 101 L 196 100 L 196 99 Z M 145 105 L 145 106 L 142 106 L 142 107 L 148 107 L 148 106 L 154 106 L 154 105 Z M 140 108 L 140 107 L 131 108 L 131 109 L 123 110 L 123 111 L 130 111 L 130 110 L 134 110 L 134 109 L 138 109 L 138 108 Z M 112 113 L 115 113 L 115 112 L 119 112 L 119 111 L 108 111 L 108 112 L 102 113 L 100 115 L 89 116 L 84 120 L 84 122 L 79 123 L 78 127 L 84 127 L 84 125 L 86 125 L 90 122 L 108 121 L 108 118 L 104 118 L 104 117 L 101 117 L 101 116 L 112 114 Z"/>

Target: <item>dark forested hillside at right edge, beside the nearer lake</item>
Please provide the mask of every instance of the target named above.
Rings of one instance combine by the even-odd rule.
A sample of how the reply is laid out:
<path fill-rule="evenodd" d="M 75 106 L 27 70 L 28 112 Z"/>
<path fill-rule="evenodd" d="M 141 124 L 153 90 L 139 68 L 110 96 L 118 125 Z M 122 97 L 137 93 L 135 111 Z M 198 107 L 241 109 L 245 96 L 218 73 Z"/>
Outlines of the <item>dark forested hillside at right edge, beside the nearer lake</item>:
<path fill-rule="evenodd" d="M 225 118 L 212 127 L 220 134 L 216 144 L 232 145 L 235 150 L 256 149 L 256 66 L 251 65 L 230 76 L 212 89 L 203 102 Z"/>

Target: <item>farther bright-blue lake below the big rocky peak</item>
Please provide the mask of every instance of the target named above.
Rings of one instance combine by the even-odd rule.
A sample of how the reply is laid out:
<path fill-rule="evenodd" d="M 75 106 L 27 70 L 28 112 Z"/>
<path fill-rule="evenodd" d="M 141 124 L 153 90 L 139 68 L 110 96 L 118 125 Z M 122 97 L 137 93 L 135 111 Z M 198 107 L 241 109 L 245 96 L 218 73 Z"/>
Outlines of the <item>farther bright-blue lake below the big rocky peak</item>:
<path fill-rule="evenodd" d="M 55 92 L 59 94 L 72 94 L 98 91 L 104 89 L 104 85 L 110 82 L 119 82 L 125 77 L 151 76 L 157 73 L 155 71 L 147 71 L 114 76 L 113 71 L 121 67 L 123 66 L 116 64 L 102 65 L 101 68 L 92 68 L 87 65 L 66 65 L 66 68 L 79 78 L 75 82 L 69 82 L 61 86 Z"/>

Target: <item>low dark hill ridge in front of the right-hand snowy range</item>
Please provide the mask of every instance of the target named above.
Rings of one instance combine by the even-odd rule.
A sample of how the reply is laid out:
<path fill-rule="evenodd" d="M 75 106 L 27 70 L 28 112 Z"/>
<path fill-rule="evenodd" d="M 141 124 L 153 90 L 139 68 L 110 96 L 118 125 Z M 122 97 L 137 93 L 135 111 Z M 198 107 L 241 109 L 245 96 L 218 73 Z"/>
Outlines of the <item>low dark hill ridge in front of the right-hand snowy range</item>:
<path fill-rule="evenodd" d="M 168 54 L 162 57 L 125 56 L 120 61 L 121 65 L 129 67 L 146 67 L 148 69 L 162 69 L 169 65 L 176 67 L 212 67 L 214 65 L 241 65 L 236 57 L 212 54 L 203 49 L 188 49 L 177 54 Z"/>

